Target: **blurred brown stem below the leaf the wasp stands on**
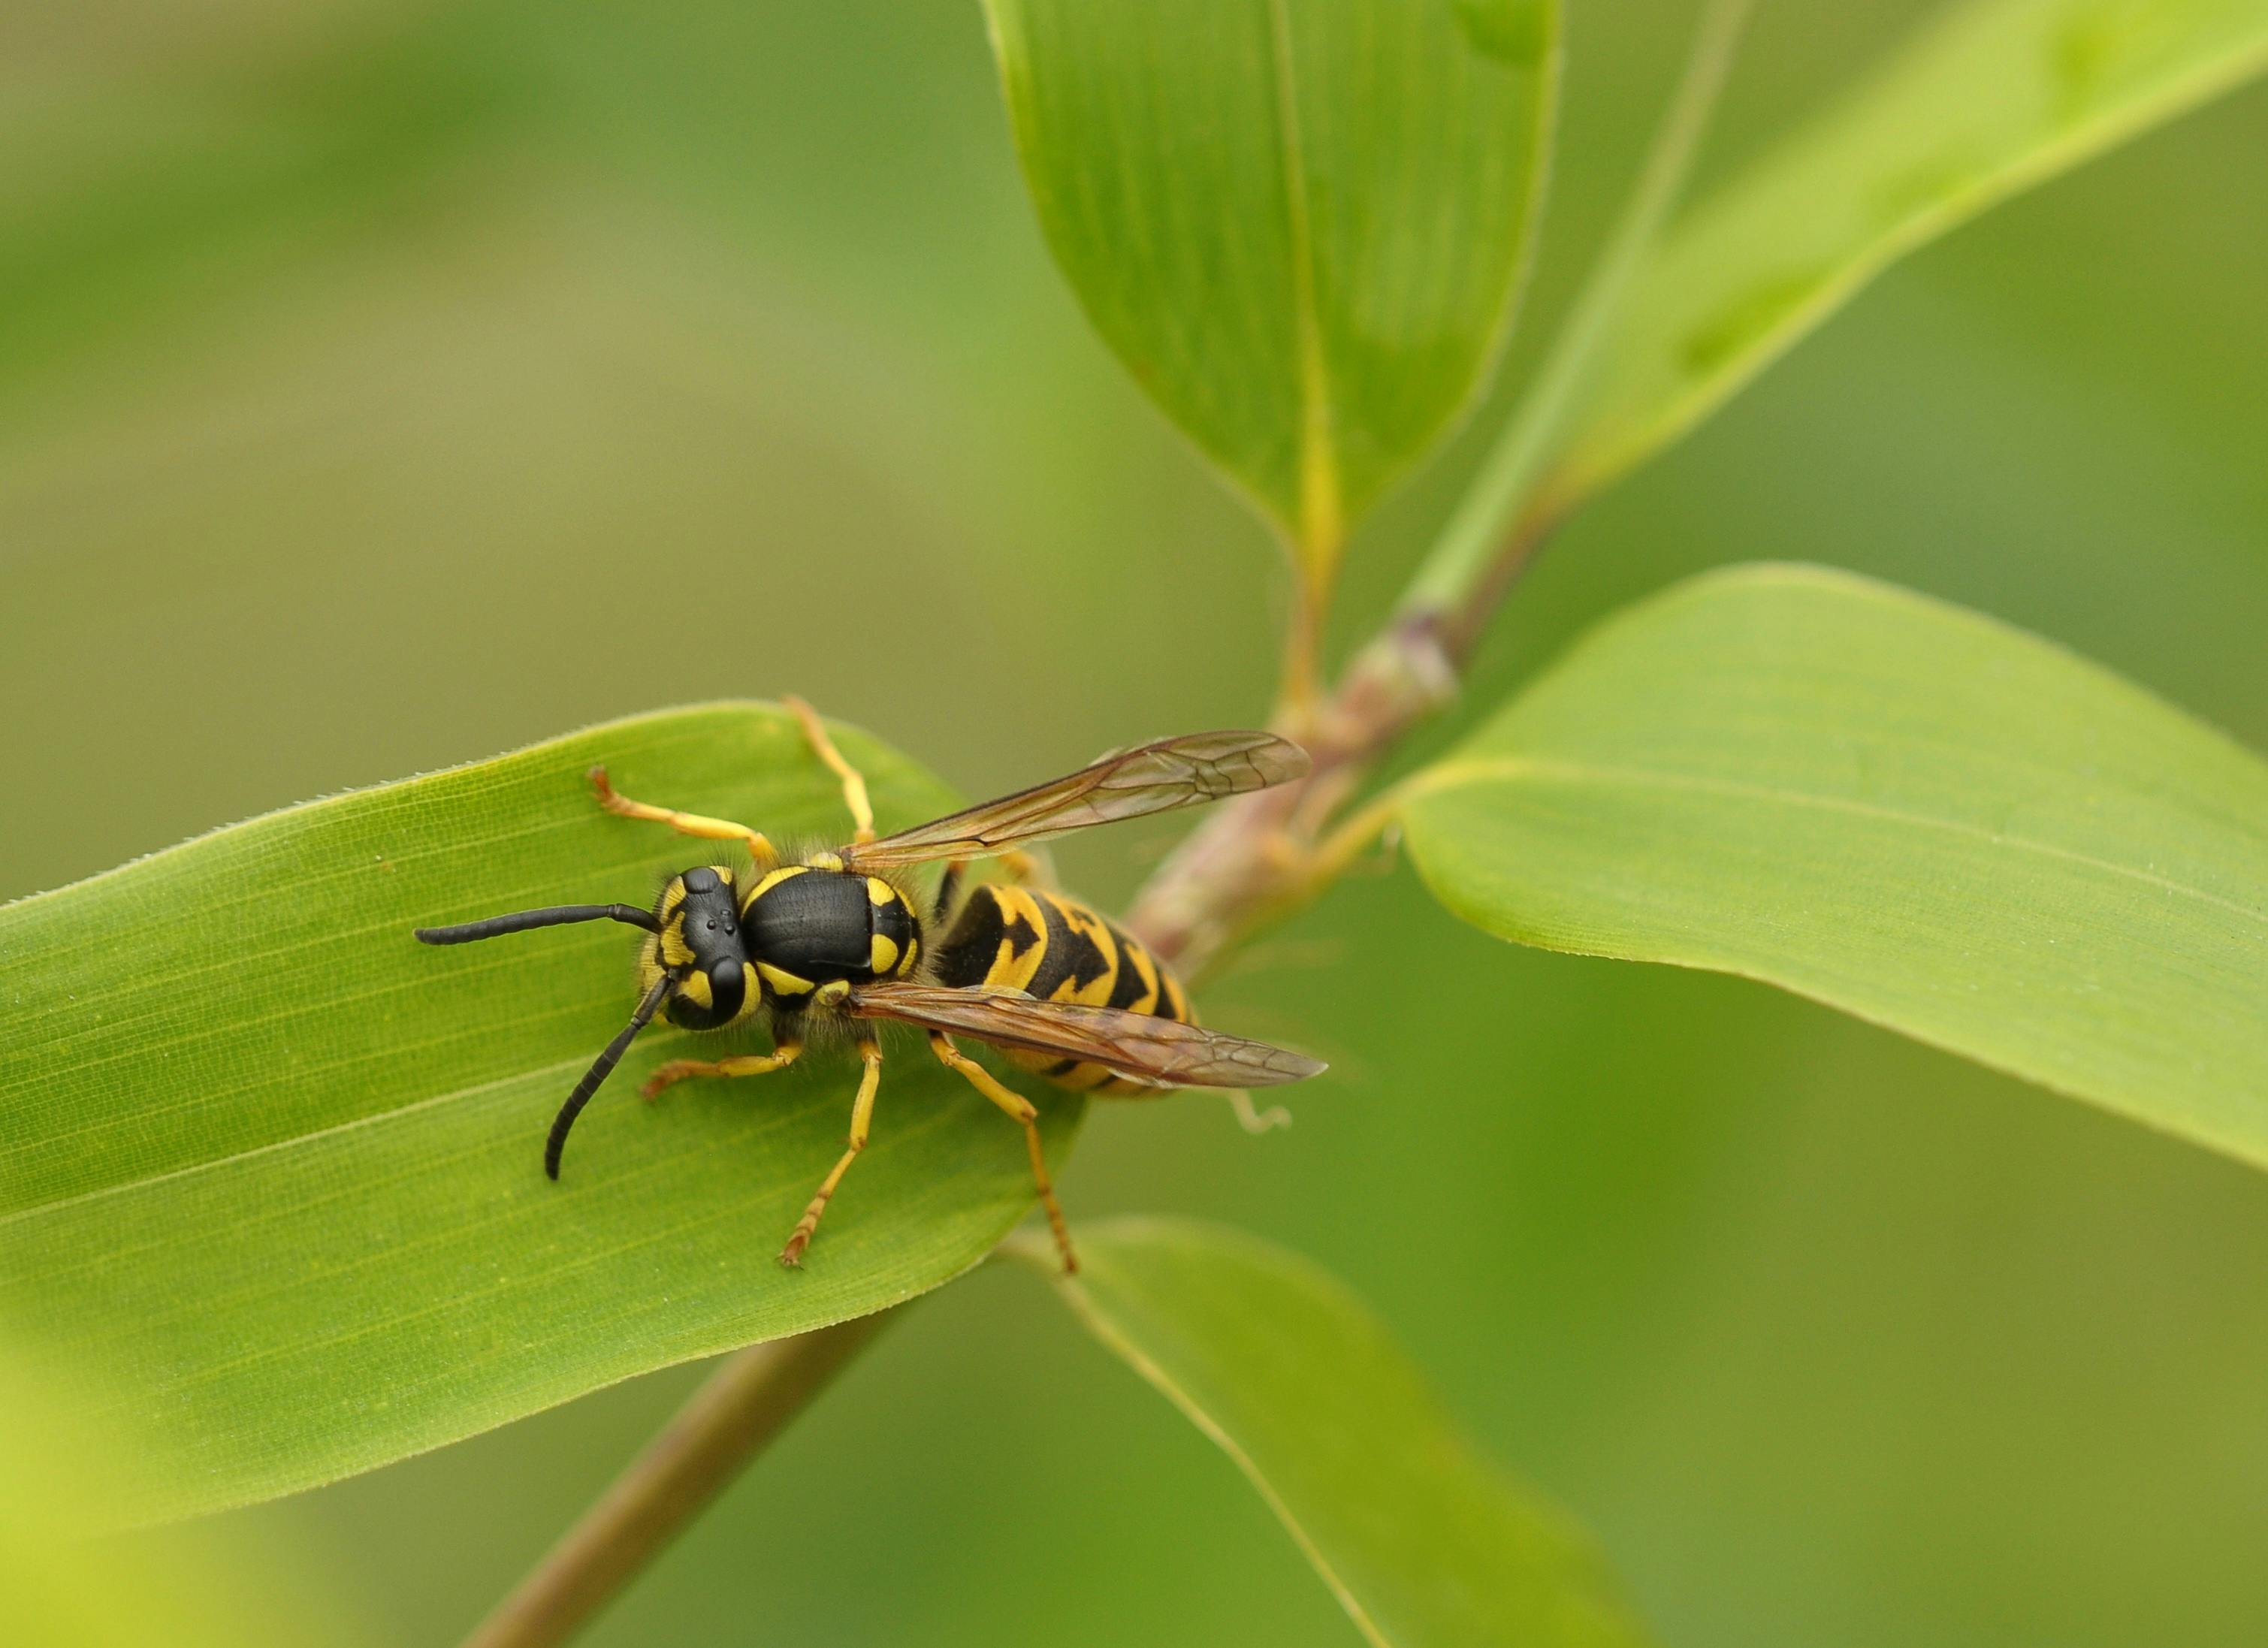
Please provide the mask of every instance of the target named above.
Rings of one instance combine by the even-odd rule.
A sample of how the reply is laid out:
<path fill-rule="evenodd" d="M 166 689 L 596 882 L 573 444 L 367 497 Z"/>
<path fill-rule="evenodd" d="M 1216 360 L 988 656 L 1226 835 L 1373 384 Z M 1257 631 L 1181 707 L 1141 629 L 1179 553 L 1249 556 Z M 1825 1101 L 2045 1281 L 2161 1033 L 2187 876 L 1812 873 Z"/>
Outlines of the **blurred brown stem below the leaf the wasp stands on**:
<path fill-rule="evenodd" d="M 572 1639 L 894 1315 L 728 1356 L 465 1648 L 553 1648 Z"/>

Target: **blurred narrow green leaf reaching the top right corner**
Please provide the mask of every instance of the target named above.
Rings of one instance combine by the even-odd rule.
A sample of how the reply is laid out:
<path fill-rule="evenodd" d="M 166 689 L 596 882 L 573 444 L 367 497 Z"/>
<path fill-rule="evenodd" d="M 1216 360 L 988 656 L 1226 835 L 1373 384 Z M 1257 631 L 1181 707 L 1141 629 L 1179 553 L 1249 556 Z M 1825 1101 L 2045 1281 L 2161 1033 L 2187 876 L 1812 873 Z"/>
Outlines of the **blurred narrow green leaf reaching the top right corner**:
<path fill-rule="evenodd" d="M 1867 281 L 2268 66 L 2268 0 L 1966 0 L 1665 238 L 1554 485 L 1583 496 Z"/>

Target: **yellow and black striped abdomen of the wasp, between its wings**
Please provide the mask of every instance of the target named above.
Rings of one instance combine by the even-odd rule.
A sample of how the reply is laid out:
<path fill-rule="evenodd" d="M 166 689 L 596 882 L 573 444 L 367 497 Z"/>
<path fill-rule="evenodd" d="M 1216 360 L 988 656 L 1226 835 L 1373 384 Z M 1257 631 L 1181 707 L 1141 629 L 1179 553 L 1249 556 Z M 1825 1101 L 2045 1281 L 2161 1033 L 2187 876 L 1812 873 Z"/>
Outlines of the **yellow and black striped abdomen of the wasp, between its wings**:
<path fill-rule="evenodd" d="M 1127 1013 L 1198 1022 L 1188 993 L 1150 950 L 1086 904 L 1027 886 L 984 884 L 968 891 L 953 932 L 937 948 L 937 982 L 1025 991 L 1043 1002 L 1116 1006 Z M 1002 1050 L 1023 1070 L 1080 1093 L 1163 1093 L 1102 1065 Z"/>

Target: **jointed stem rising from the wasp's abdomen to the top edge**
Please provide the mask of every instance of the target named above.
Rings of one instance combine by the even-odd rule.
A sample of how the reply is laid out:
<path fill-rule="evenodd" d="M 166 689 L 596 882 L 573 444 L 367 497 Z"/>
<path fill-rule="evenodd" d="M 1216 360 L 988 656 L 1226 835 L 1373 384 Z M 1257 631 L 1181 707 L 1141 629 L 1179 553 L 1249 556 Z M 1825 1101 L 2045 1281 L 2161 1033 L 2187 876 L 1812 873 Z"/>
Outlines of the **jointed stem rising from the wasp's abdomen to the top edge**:
<path fill-rule="evenodd" d="M 1458 676 L 1504 596 L 1583 501 L 1547 462 L 1610 335 L 1622 295 L 1685 186 L 1749 5 L 1710 0 L 1703 9 L 1685 73 L 1615 233 L 1393 619 L 1354 655 L 1329 698 L 1295 719 L 1279 712 L 1281 730 L 1309 746 L 1309 778 L 1220 807 L 1136 900 L 1129 927 L 1184 972 L 1202 977 L 1254 925 L 1311 900 L 1390 823 L 1372 807 L 1354 836 L 1322 839 L 1393 746 L 1456 698 Z M 1293 617 L 1295 626 L 1304 621 L 1306 612 Z M 1313 648 L 1311 635 L 1293 635 L 1288 651 L 1302 648 Z"/>

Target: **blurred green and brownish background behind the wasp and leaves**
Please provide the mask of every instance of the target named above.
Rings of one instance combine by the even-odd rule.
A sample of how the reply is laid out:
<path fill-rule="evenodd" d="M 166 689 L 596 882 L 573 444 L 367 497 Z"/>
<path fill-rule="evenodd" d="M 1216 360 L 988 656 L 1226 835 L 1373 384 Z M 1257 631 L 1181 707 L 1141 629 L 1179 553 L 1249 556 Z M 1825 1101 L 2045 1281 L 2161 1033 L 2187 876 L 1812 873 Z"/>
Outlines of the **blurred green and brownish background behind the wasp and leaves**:
<path fill-rule="evenodd" d="M 1515 376 L 1690 23 L 1572 11 Z M 1760 11 L 1710 175 L 1928 7 Z M 0 895 L 674 700 L 801 691 L 968 793 L 1263 712 L 1286 571 L 1048 265 L 975 0 L 14 5 L 0 154 Z M 1894 272 L 1563 537 L 1470 703 L 1685 571 L 1812 558 L 2268 744 L 2263 154 L 2254 88 Z M 1359 542 L 1340 639 L 1474 449 Z M 1118 900 L 1163 841 L 1061 864 Z M 1406 870 L 1209 1013 L 1334 1072 L 1268 1138 L 1102 1108 L 1073 1217 L 1338 1269 L 1665 1643 L 2268 1639 L 2257 1174 L 1758 986 L 1490 943 Z M 696 1378 L 229 1521 L 449 1641 Z M 980 1274 L 592 1634 L 905 1639 L 1356 1634 Z"/>

